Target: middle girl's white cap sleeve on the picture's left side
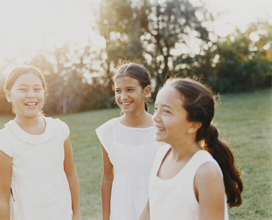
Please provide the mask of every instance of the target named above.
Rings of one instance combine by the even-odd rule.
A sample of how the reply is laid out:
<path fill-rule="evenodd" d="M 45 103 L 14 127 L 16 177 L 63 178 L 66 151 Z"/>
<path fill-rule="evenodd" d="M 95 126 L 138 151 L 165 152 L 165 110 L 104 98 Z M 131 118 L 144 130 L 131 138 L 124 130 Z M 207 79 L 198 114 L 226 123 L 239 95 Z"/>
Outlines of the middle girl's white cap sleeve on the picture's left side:
<path fill-rule="evenodd" d="M 110 152 L 110 148 L 114 139 L 114 133 L 116 133 L 118 130 L 117 120 L 118 118 L 112 118 L 95 129 L 97 137 L 99 138 L 107 153 Z"/>

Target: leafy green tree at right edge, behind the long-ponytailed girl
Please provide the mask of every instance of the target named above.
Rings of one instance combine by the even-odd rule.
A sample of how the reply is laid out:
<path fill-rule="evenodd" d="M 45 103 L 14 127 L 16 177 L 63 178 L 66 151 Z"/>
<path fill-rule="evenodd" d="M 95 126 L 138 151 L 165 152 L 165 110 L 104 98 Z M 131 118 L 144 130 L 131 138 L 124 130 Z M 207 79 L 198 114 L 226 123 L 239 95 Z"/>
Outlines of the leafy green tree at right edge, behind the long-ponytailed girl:
<path fill-rule="evenodd" d="M 243 33 L 237 29 L 220 37 L 208 83 L 219 92 L 271 86 L 271 39 L 272 26 L 267 22 L 252 23 Z"/>

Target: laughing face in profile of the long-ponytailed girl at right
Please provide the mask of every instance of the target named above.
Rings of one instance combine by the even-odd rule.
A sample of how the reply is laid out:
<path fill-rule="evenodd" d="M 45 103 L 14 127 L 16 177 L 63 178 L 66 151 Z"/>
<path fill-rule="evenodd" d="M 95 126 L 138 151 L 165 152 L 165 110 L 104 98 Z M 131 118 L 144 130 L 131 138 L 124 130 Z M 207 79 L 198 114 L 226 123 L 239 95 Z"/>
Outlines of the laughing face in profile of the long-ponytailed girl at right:
<path fill-rule="evenodd" d="M 182 106 L 180 93 L 171 85 L 162 87 L 157 93 L 154 114 L 154 137 L 169 144 L 185 140 L 193 122 L 187 120 L 187 111 Z"/>

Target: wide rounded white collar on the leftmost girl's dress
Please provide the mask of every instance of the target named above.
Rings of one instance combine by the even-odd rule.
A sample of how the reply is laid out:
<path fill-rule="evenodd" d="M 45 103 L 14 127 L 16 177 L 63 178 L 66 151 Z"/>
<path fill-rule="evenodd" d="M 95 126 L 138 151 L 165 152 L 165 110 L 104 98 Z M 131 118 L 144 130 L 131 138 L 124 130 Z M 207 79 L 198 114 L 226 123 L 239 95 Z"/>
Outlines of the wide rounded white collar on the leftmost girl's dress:
<path fill-rule="evenodd" d="M 44 143 L 51 138 L 53 131 L 50 128 L 52 127 L 52 124 L 50 123 L 50 121 L 46 117 L 43 117 L 43 118 L 46 122 L 46 127 L 44 132 L 39 135 L 33 135 L 30 133 L 27 133 L 13 120 L 8 121 L 6 124 L 4 124 L 4 126 L 9 127 L 19 139 L 21 139 L 22 141 L 26 143 L 33 143 L 33 144 Z"/>

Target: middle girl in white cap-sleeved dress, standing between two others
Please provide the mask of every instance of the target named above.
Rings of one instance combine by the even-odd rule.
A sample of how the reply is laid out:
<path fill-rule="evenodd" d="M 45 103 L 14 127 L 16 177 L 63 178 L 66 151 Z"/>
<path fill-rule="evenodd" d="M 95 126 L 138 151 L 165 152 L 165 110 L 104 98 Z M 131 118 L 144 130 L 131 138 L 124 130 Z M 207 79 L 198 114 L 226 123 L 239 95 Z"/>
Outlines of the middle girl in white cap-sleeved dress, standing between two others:
<path fill-rule="evenodd" d="M 152 116 L 145 102 L 150 93 L 148 71 L 127 63 L 112 79 L 121 116 L 96 129 L 103 158 L 102 218 L 138 220 L 148 198 L 152 161 L 162 143 L 153 139 Z"/>

